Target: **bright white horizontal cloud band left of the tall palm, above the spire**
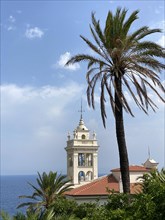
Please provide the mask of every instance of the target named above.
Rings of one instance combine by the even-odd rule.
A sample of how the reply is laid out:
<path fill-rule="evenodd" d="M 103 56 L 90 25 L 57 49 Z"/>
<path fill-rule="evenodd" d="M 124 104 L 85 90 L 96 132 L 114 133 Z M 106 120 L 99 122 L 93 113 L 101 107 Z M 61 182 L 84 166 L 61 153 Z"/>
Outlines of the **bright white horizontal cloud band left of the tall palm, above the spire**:
<path fill-rule="evenodd" d="M 61 109 L 61 106 L 65 106 L 65 104 L 72 100 L 76 93 L 79 94 L 81 91 L 82 86 L 74 82 L 70 82 L 64 87 L 53 87 L 48 85 L 35 88 L 30 86 L 19 87 L 15 84 L 1 86 L 2 102 L 4 104 L 22 105 L 33 103 L 34 100 L 45 101 L 56 99 L 56 101 L 58 100 L 58 102 L 61 102 L 61 105 L 56 106 L 56 109 Z M 9 102 L 6 103 L 5 100 L 9 100 Z"/>

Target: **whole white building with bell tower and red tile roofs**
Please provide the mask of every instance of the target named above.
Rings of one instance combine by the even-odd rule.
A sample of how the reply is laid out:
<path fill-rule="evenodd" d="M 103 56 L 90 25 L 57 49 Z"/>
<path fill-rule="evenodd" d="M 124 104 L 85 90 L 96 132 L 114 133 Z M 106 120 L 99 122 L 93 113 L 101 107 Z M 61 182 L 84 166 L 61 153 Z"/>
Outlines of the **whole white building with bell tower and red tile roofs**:
<path fill-rule="evenodd" d="M 81 112 L 82 113 L 82 112 Z M 120 168 L 111 170 L 111 173 L 98 178 L 98 143 L 96 134 L 90 137 L 90 132 L 85 126 L 82 114 L 79 125 L 73 132 L 73 137 L 68 134 L 67 147 L 67 176 L 72 180 L 74 189 L 65 193 L 69 199 L 74 199 L 79 204 L 96 202 L 100 204 L 107 201 L 109 191 L 123 192 Z M 136 193 L 141 189 L 137 184 L 143 174 L 157 168 L 158 163 L 148 158 L 139 165 L 129 166 L 130 192 Z M 107 190 L 108 189 L 108 190 Z"/>

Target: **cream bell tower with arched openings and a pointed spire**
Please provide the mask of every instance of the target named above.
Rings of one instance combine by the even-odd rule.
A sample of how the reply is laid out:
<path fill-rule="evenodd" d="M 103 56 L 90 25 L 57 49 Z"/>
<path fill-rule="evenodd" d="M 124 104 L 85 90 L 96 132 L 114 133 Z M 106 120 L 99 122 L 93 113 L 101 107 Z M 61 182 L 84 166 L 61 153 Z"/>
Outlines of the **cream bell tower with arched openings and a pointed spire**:
<path fill-rule="evenodd" d="M 81 117 L 73 136 L 68 133 L 67 146 L 67 176 L 76 186 L 86 184 L 98 178 L 98 144 L 96 134 L 85 126 Z"/>

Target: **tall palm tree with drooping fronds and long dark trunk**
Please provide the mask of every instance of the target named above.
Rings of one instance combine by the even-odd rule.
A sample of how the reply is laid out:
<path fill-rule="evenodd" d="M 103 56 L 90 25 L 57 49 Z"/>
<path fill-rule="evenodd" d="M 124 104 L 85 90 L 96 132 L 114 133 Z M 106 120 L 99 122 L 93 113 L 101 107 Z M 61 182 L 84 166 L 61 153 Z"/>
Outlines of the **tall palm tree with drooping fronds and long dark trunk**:
<path fill-rule="evenodd" d="M 90 31 L 95 43 L 83 36 L 80 37 L 94 51 L 96 56 L 78 54 L 66 63 L 66 65 L 70 65 L 81 61 L 88 62 L 86 73 L 87 99 L 89 106 L 92 106 L 93 109 L 95 108 L 94 92 L 96 84 L 98 81 L 100 82 L 100 109 L 104 127 L 106 127 L 105 92 L 109 96 L 115 118 L 124 193 L 130 192 L 130 179 L 123 109 L 134 116 L 124 91 L 131 94 L 135 103 L 146 114 L 149 107 L 153 111 L 157 107 L 147 89 L 153 90 L 162 101 L 164 100 L 157 88 L 165 92 L 158 76 L 158 73 L 165 68 L 165 65 L 159 60 L 165 57 L 164 50 L 157 43 L 143 40 L 144 37 L 161 32 L 161 30 L 143 26 L 130 33 L 131 25 L 138 19 L 138 13 L 138 10 L 134 11 L 126 18 L 126 9 L 117 8 L 114 15 L 109 11 L 104 31 L 100 27 L 99 20 L 97 21 L 94 13 L 92 13 Z"/>

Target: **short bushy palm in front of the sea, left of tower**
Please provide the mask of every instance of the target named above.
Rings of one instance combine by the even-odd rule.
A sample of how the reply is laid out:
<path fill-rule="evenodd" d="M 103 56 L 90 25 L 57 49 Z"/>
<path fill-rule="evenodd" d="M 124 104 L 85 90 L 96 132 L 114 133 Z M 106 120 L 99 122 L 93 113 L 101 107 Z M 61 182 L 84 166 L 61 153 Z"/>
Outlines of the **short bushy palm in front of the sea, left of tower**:
<path fill-rule="evenodd" d="M 17 208 L 28 206 L 29 210 L 35 212 L 45 212 L 50 208 L 58 196 L 62 196 L 64 192 L 72 189 L 73 184 L 69 183 L 65 175 L 58 175 L 57 172 L 45 172 L 40 175 L 38 173 L 37 183 L 38 188 L 31 183 L 29 185 L 34 189 L 32 196 L 20 196 L 19 198 L 32 199 L 34 202 L 25 202 Z"/>

